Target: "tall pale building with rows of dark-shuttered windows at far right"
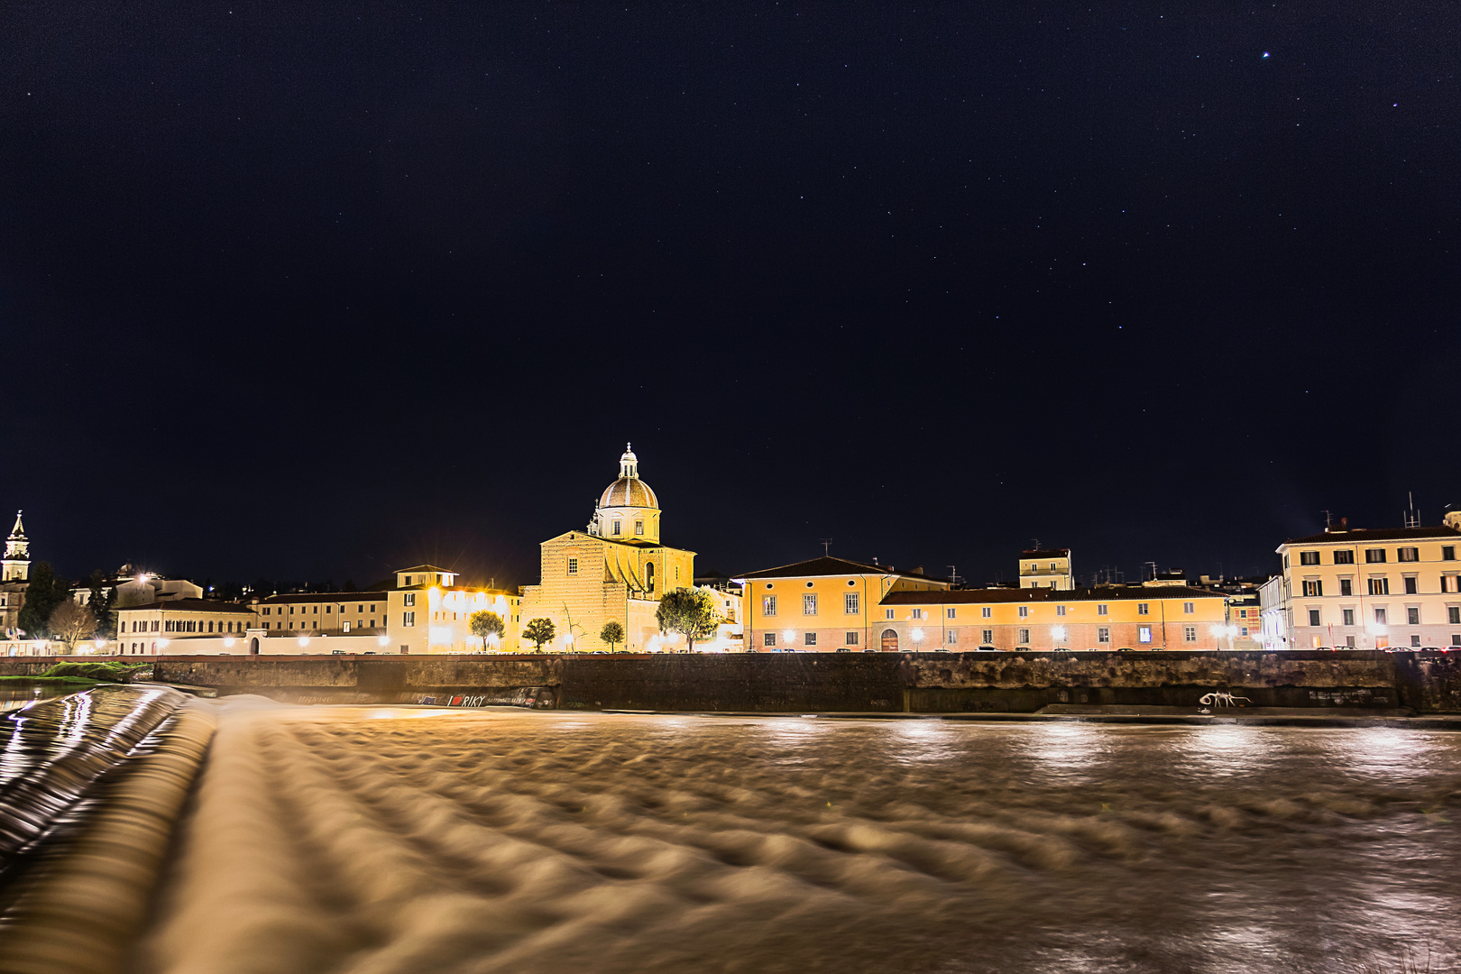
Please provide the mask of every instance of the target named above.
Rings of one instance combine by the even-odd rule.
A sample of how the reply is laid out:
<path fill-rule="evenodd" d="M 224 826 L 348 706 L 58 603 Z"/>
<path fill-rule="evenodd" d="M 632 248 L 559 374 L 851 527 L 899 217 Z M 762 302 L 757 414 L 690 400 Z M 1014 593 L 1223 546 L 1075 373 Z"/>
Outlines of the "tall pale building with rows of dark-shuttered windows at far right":
<path fill-rule="evenodd" d="M 1275 551 L 1287 648 L 1461 645 L 1461 530 L 1346 524 Z"/>

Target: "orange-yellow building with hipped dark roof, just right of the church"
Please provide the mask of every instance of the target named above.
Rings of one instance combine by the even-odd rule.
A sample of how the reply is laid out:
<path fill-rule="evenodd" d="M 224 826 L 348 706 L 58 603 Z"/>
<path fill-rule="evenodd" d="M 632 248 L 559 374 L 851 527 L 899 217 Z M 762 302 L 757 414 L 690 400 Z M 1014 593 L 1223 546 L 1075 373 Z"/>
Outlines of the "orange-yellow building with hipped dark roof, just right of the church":
<path fill-rule="evenodd" d="M 900 572 L 831 556 L 752 571 L 735 581 L 744 593 L 745 648 L 760 653 L 882 648 L 880 634 L 893 619 L 887 615 L 893 609 L 882 605 L 890 594 L 926 599 L 948 588 L 922 568 Z"/>

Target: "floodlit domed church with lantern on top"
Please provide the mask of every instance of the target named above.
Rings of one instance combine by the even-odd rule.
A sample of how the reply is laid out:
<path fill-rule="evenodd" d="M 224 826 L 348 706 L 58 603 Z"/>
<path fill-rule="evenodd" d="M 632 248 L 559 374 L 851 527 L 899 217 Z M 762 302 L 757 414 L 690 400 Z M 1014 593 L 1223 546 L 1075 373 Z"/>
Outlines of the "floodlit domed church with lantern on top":
<path fill-rule="evenodd" d="M 564 532 L 539 546 L 541 581 L 523 587 L 522 626 L 549 619 L 557 629 L 545 650 L 608 650 L 605 622 L 624 626 L 617 650 L 644 651 L 672 643 L 659 632 L 655 609 L 671 588 L 691 587 L 695 552 L 660 542 L 659 498 L 638 476 L 628 447 L 619 476 L 603 489 L 584 530 Z M 522 640 L 526 650 L 529 641 Z"/>

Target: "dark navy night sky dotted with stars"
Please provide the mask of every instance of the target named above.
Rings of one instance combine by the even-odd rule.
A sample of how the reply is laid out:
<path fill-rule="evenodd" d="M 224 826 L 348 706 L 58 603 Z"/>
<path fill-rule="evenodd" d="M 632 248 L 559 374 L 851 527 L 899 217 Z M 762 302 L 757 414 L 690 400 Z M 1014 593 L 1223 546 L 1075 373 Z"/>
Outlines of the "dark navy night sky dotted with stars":
<path fill-rule="evenodd" d="M 1461 505 L 1454 3 L 725 6 L 3 4 L 34 556 L 527 584 L 628 440 L 723 572 Z"/>

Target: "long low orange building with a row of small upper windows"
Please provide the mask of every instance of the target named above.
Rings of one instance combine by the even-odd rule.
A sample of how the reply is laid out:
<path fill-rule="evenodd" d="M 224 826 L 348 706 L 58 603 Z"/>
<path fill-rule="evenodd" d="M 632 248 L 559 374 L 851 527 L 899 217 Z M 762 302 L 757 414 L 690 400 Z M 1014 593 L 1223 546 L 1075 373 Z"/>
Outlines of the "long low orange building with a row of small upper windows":
<path fill-rule="evenodd" d="M 1227 597 L 1205 588 L 890 591 L 878 648 L 1221 650 Z"/>

